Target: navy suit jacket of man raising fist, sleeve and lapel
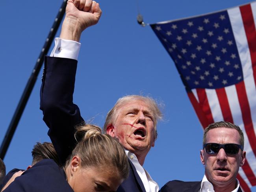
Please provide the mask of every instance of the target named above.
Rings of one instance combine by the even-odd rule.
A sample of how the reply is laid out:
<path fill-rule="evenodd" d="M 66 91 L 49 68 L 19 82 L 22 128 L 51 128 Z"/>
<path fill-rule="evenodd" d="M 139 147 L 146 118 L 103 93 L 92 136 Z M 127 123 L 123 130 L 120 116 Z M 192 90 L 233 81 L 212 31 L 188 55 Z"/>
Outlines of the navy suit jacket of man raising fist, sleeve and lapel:
<path fill-rule="evenodd" d="M 74 126 L 84 122 L 77 105 L 73 103 L 77 61 L 59 57 L 45 57 L 40 109 L 43 111 L 48 135 L 61 162 L 65 163 L 76 145 Z M 144 185 L 130 162 L 130 175 L 118 192 L 145 192 Z"/>

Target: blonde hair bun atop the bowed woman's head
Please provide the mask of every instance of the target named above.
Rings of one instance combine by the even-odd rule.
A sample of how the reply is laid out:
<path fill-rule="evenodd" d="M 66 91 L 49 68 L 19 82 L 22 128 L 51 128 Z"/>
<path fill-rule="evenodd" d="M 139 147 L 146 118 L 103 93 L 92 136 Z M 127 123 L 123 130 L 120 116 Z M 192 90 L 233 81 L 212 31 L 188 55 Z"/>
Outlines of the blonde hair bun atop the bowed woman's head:
<path fill-rule="evenodd" d="M 101 128 L 95 125 L 87 124 L 84 126 L 76 127 L 75 138 L 76 141 L 86 140 L 90 137 L 100 135 L 102 133 Z"/>

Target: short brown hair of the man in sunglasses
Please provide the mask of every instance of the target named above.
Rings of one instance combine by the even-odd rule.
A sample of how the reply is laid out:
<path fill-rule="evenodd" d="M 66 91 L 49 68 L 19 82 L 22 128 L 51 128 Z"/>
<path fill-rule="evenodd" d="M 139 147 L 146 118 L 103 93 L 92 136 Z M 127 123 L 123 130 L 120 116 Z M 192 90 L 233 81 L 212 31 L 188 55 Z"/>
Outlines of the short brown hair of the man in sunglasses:
<path fill-rule="evenodd" d="M 207 135 L 208 131 L 210 131 L 211 129 L 220 128 L 220 127 L 236 129 L 240 136 L 240 140 L 239 140 L 240 145 L 244 147 L 245 138 L 243 137 L 243 131 L 240 129 L 240 127 L 235 124 L 232 124 L 230 122 L 224 122 L 224 121 L 215 122 L 213 124 L 210 124 L 208 127 L 206 127 L 204 129 L 203 145 L 205 144 L 206 135 Z"/>

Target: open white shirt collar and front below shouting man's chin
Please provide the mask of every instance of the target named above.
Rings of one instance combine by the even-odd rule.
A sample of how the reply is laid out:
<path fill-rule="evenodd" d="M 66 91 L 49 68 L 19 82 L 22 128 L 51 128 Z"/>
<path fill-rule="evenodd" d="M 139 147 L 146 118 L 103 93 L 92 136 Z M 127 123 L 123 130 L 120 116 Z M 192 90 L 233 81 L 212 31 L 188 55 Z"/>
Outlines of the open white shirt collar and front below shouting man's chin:
<path fill-rule="evenodd" d="M 134 164 L 134 167 L 141 178 L 141 181 L 145 187 L 146 192 L 158 192 L 159 191 L 159 186 L 158 184 L 151 178 L 151 176 L 148 174 L 148 172 L 139 164 L 139 161 L 134 155 L 134 153 L 124 150 L 128 159 Z"/>

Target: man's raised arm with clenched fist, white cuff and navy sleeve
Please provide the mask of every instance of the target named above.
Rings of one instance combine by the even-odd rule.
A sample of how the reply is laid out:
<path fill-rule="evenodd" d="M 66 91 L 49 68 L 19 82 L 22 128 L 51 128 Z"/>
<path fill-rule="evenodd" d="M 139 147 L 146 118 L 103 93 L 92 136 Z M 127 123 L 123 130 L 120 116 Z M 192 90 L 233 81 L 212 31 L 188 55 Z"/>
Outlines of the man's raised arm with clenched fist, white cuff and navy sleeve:
<path fill-rule="evenodd" d="M 48 135 L 63 164 L 76 144 L 74 126 L 83 122 L 78 106 L 73 103 L 77 56 L 72 55 L 78 53 L 72 53 L 72 47 L 78 44 L 85 28 L 98 22 L 100 15 L 99 4 L 95 1 L 68 0 L 61 39 L 56 40 L 51 54 L 54 57 L 45 57 L 40 109 L 49 127 Z"/>

